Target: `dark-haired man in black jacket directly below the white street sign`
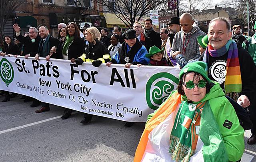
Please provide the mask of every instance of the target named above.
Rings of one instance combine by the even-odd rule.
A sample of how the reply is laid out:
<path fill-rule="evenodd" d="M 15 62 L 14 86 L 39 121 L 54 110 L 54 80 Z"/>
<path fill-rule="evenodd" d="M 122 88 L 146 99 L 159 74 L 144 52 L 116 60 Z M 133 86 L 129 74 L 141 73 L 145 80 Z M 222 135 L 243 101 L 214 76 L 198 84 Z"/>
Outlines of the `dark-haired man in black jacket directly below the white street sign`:
<path fill-rule="evenodd" d="M 152 40 L 151 46 L 157 46 L 157 48 L 161 49 L 162 40 L 160 34 L 154 31 L 153 21 L 148 18 L 145 21 L 144 35 L 149 37 Z"/>

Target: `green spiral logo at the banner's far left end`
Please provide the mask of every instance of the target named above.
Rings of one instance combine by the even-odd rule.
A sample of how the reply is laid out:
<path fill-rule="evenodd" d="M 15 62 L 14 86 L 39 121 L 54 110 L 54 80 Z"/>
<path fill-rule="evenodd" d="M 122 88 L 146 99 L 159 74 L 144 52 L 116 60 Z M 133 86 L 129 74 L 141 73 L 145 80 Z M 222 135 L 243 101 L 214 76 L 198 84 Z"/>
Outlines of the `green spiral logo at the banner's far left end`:
<path fill-rule="evenodd" d="M 12 64 L 6 58 L 2 58 L 0 62 L 0 76 L 8 87 L 13 80 L 14 71 Z"/>

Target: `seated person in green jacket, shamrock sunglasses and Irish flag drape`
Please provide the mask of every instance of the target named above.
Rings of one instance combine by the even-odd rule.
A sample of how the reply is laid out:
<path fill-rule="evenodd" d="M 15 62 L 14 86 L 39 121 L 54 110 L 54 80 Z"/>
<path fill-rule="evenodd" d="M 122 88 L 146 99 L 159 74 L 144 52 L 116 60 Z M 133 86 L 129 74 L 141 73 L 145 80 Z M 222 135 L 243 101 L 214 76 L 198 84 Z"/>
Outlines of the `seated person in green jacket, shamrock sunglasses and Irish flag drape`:
<path fill-rule="evenodd" d="M 232 104 L 202 61 L 180 71 L 178 89 L 148 116 L 134 162 L 236 162 L 244 130 Z"/>

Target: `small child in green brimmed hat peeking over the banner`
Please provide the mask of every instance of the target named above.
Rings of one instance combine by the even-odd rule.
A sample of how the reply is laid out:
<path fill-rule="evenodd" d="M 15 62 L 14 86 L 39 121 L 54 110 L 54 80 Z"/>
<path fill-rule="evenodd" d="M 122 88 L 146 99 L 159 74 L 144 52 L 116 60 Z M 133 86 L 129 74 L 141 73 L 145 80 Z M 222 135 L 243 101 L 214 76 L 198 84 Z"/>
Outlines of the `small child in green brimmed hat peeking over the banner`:
<path fill-rule="evenodd" d="M 164 49 L 160 50 L 156 46 L 152 46 L 149 49 L 149 54 L 146 54 L 146 58 L 150 59 L 150 62 L 148 65 L 153 65 L 153 66 L 169 66 L 166 63 L 166 58 L 163 58 L 162 56 L 162 51 Z M 138 67 L 141 66 L 141 64 L 137 64 Z"/>

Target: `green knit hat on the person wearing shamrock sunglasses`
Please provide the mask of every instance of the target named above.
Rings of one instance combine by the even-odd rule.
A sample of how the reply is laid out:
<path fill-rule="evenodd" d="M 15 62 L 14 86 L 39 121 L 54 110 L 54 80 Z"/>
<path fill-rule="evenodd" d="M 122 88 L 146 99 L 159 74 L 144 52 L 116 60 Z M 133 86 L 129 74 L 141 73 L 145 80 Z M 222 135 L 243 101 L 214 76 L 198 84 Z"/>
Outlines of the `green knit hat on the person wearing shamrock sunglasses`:
<path fill-rule="evenodd" d="M 206 78 L 206 81 L 208 83 L 210 83 L 211 80 L 208 78 L 205 68 L 206 68 L 206 63 L 202 61 L 188 63 L 180 71 L 179 79 L 181 80 L 182 76 L 187 72 L 197 72 L 198 74 L 201 74 L 204 78 Z"/>

